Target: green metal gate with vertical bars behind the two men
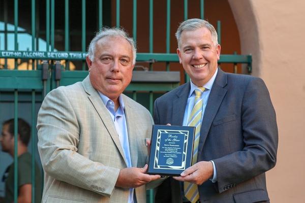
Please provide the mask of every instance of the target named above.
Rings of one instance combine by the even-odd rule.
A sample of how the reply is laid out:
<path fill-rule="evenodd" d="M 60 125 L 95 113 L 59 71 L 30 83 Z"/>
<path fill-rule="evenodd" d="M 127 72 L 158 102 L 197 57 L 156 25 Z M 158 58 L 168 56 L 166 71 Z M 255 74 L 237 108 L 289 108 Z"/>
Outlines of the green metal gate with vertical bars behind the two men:
<path fill-rule="evenodd" d="M 132 83 L 128 86 L 125 93 L 137 100 L 145 106 L 150 113 L 153 113 L 154 100 L 164 92 L 170 91 L 180 84 L 180 73 L 170 70 L 170 64 L 177 63 L 178 57 L 175 53 L 170 53 L 170 24 L 171 24 L 171 1 L 166 1 L 166 44 L 165 53 L 154 53 L 154 1 L 149 1 L 149 42 L 148 53 L 137 54 L 137 64 L 147 64 L 147 68 L 143 65 L 137 65 L 133 73 Z M 182 1 L 182 0 L 181 0 Z M 30 7 L 31 23 L 24 23 L 19 15 L 21 4 L 27 2 Z M 188 19 L 188 4 L 190 1 L 184 0 L 184 19 Z M 200 0 L 200 16 L 204 18 L 204 1 Z M 91 13 L 86 12 L 86 7 L 96 8 L 94 30 L 100 29 L 103 25 L 111 25 L 108 9 L 115 5 L 115 26 L 120 26 L 120 1 L 60 1 L 63 4 L 59 10 L 62 13 L 56 12 L 55 0 L 27 0 L 27 1 L 0 1 L 0 122 L 6 120 L 5 116 L 15 118 L 15 137 L 17 136 L 17 118 L 26 118 L 32 124 L 32 162 L 34 165 L 35 159 L 39 159 L 37 151 L 37 130 L 36 121 L 38 109 L 45 95 L 52 89 L 61 86 L 73 84 L 81 81 L 87 76 L 85 56 L 86 46 L 94 35 L 94 31 L 88 35 L 88 27 L 92 25 L 86 23 L 86 18 L 92 18 Z M 137 40 L 137 0 L 130 0 L 132 4 L 132 36 Z M 80 27 L 73 29 L 73 19 L 71 19 L 71 10 L 73 4 L 78 4 L 80 14 Z M 92 6 L 94 4 L 94 6 Z M 10 7 L 11 6 L 11 7 Z M 1 9 L 2 8 L 2 9 Z M 10 18 L 10 11 L 13 17 Z M 56 13 L 56 15 L 55 15 Z M 62 15 L 60 15 L 62 14 Z M 63 19 L 63 26 L 59 30 L 56 29 L 57 16 L 60 15 Z M 44 16 L 44 17 L 43 17 Z M 44 22 L 40 19 L 44 18 Z M 11 19 L 11 20 L 10 20 Z M 13 23 L 10 23 L 14 20 Z M 26 24 L 26 28 L 19 27 L 21 24 Z M 221 37 L 221 23 L 217 24 L 219 42 Z M 56 39 L 62 35 L 60 49 L 57 49 Z M 27 36 L 27 41 L 24 42 Z M 57 36 L 57 37 L 56 37 Z M 79 45 L 75 48 L 73 43 L 80 38 Z M 22 40 L 24 41 L 22 41 Z M 156 40 L 156 39 L 155 39 Z M 27 43 L 30 46 L 26 49 L 22 48 L 22 44 Z M 57 43 L 58 44 L 58 43 Z M 13 46 L 12 46 L 13 45 Z M 58 45 L 59 46 L 59 45 Z M 77 50 L 77 51 L 76 51 Z M 154 71 L 154 64 L 165 63 L 165 71 Z M 26 65 L 26 70 L 20 70 L 21 66 Z M 246 63 L 248 71 L 251 72 L 252 57 L 250 55 L 221 55 L 219 63 L 232 63 L 234 71 L 237 63 Z M 74 66 L 75 68 L 73 68 Z M 138 69 L 144 69 L 139 71 Z M 73 70 L 74 69 L 74 70 Z M 186 81 L 188 77 L 185 77 Z M 183 83 L 185 81 L 182 81 Z M 23 105 L 23 106 L 22 106 Z M 17 151 L 17 139 L 15 139 L 15 152 Z M 17 153 L 15 153 L 14 162 L 17 163 Z M 32 177 L 34 177 L 35 167 L 32 167 Z M 0 170 L 1 172 L 1 170 Z M 2 174 L 0 174 L 1 176 Z M 15 202 L 17 202 L 17 166 L 15 166 Z M 35 181 L 32 181 L 32 186 L 35 188 Z M 35 196 L 35 190 L 32 189 L 32 197 Z M 153 191 L 147 193 L 147 202 L 153 202 Z M 34 202 L 34 198 L 32 198 Z"/>

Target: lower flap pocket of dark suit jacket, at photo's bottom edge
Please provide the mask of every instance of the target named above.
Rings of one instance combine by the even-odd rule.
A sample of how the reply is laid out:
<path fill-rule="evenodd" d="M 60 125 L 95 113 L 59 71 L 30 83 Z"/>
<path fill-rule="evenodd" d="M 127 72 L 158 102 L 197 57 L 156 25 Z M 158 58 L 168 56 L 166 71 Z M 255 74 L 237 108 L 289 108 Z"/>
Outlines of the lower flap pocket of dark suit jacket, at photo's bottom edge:
<path fill-rule="evenodd" d="M 264 189 L 251 190 L 233 194 L 235 203 L 254 203 L 269 201 L 267 192 Z"/>

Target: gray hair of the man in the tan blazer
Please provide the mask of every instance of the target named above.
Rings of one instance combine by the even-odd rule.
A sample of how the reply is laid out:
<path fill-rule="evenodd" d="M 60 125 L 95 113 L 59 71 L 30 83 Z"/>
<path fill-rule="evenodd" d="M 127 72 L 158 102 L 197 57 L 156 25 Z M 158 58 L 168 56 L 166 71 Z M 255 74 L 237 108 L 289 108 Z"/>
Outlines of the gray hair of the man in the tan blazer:
<path fill-rule="evenodd" d="M 91 61 L 94 60 L 94 54 L 96 51 L 96 45 L 97 42 L 104 38 L 104 37 L 122 37 L 125 40 L 129 42 L 132 48 L 132 53 L 133 53 L 133 65 L 136 63 L 136 53 L 137 53 L 137 48 L 136 48 L 136 43 L 134 42 L 133 38 L 130 38 L 128 33 L 123 29 L 123 28 L 109 28 L 109 27 L 103 27 L 100 29 L 100 31 L 97 32 L 96 36 L 92 39 L 90 42 L 90 45 L 88 47 L 88 53 L 87 56 Z"/>

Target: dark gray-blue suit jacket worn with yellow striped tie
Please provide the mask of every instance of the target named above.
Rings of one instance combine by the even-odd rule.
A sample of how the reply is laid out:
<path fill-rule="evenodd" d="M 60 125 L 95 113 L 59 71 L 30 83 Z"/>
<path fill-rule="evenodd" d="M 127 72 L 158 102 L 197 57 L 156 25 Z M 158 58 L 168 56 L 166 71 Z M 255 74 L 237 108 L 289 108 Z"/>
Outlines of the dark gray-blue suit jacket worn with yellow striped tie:
<path fill-rule="evenodd" d="M 155 124 L 182 125 L 190 83 L 155 101 Z M 276 113 L 264 82 L 220 69 L 204 112 L 198 161 L 213 160 L 217 182 L 198 187 L 201 202 L 268 201 L 265 172 L 276 164 Z M 171 195 L 170 195 L 171 194 Z M 178 181 L 166 180 L 156 202 L 181 202 Z"/>

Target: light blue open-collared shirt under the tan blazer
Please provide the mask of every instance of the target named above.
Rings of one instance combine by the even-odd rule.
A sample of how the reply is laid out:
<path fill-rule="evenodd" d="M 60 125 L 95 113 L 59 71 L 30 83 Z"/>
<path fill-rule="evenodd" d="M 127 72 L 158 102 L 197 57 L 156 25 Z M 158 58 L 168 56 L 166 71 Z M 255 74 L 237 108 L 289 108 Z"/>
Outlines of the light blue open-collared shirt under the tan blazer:
<path fill-rule="evenodd" d="M 125 160 L 127 162 L 127 167 L 132 167 L 131 165 L 131 157 L 130 157 L 130 149 L 129 149 L 129 140 L 128 140 L 128 131 L 127 131 L 127 124 L 126 124 L 126 117 L 124 113 L 124 101 L 121 95 L 118 97 L 119 107 L 114 111 L 114 103 L 113 101 L 99 92 L 103 103 L 105 104 L 111 119 L 114 123 L 116 132 L 118 134 L 119 142 L 123 148 Z M 136 203 L 136 199 L 134 199 L 134 188 L 130 188 L 129 191 L 129 203 Z"/>

